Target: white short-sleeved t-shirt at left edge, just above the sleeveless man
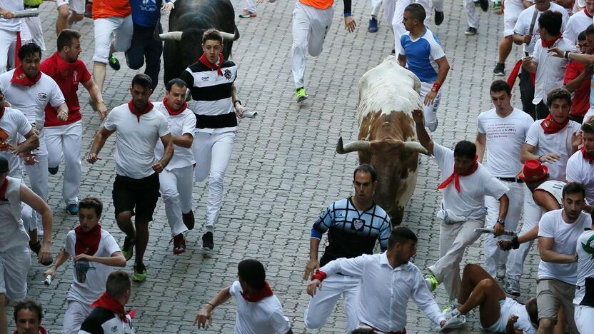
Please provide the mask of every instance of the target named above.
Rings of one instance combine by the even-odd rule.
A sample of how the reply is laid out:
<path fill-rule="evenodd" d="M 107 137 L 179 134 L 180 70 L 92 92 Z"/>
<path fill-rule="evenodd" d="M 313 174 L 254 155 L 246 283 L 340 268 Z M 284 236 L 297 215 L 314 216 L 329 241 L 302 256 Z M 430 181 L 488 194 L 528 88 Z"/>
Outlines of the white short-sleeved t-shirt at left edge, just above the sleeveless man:
<path fill-rule="evenodd" d="M 4 116 L 0 118 L 0 156 L 4 156 L 9 161 L 9 176 L 14 178 L 23 177 L 21 175 L 21 158 L 14 156 L 7 144 L 10 143 L 16 146 L 19 143 L 20 136 L 26 136 L 31 128 L 33 128 L 31 123 L 27 121 L 21 111 L 13 108 L 4 109 Z"/>

